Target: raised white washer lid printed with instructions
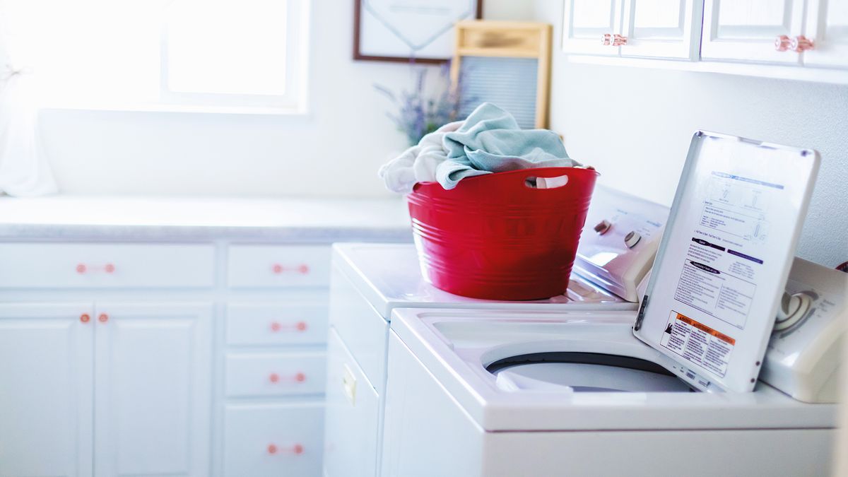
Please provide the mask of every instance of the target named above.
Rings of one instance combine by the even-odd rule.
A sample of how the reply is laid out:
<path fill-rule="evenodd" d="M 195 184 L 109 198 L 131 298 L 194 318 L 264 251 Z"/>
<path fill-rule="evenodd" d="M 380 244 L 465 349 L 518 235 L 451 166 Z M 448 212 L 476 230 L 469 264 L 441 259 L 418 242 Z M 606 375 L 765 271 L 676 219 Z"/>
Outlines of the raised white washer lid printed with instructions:
<path fill-rule="evenodd" d="M 692 138 L 633 334 L 695 388 L 754 389 L 818 164 L 810 149 Z"/>

